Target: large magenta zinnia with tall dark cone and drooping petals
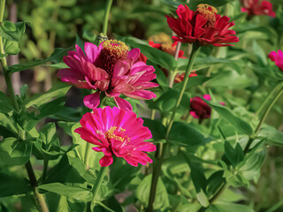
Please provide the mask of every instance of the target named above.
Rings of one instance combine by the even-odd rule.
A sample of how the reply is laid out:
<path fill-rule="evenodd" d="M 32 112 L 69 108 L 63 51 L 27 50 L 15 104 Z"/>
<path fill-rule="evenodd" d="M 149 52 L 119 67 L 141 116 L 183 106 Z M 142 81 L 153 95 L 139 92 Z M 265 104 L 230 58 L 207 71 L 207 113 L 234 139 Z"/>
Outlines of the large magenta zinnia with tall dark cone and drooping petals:
<path fill-rule="evenodd" d="M 126 110 L 132 110 L 132 106 L 120 98 L 120 94 L 139 100 L 156 97 L 147 90 L 158 87 L 157 83 L 150 82 L 157 77 L 153 73 L 155 69 L 137 60 L 140 49 L 129 51 L 124 42 L 107 40 L 98 47 L 86 42 L 85 53 L 76 45 L 76 51 L 69 51 L 69 55 L 64 57 L 70 68 L 59 70 L 57 76 L 76 87 L 96 90 L 96 93 L 84 98 L 88 108 L 94 109 L 99 105 L 101 92 Z"/>

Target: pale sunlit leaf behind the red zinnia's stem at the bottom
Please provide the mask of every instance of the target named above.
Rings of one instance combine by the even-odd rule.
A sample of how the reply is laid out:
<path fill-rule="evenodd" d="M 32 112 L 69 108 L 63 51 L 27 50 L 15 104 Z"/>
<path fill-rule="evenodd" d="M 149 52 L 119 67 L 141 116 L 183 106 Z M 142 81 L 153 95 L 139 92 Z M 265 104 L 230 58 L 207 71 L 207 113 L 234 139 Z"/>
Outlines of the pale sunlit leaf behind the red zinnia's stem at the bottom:
<path fill-rule="evenodd" d="M 152 175 L 148 175 L 142 179 L 142 183 L 137 187 L 135 191 L 136 198 L 142 202 L 143 205 L 148 206 L 149 203 L 149 192 L 150 192 L 150 185 L 151 185 L 151 178 Z M 169 207 L 169 200 L 168 194 L 166 191 L 166 187 L 161 178 L 158 179 L 157 183 L 157 193 L 156 199 L 153 204 L 153 208 L 155 210 Z"/>

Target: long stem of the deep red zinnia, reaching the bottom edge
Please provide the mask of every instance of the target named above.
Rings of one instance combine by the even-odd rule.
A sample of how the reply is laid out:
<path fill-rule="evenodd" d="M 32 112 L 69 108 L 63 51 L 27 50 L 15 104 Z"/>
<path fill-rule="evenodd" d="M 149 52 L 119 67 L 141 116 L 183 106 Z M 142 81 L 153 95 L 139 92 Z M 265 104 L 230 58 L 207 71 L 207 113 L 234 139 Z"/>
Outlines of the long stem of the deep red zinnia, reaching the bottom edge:
<path fill-rule="evenodd" d="M 190 72 L 192 71 L 193 64 L 194 64 L 194 61 L 195 61 L 195 56 L 196 56 L 199 49 L 200 48 L 199 48 L 198 45 L 193 44 L 192 54 L 190 55 L 189 61 L 187 63 L 187 70 L 186 70 L 185 77 L 184 77 L 184 80 L 183 80 L 183 85 L 182 85 L 182 88 L 181 88 L 181 91 L 180 91 L 180 96 L 179 96 L 179 99 L 178 99 L 178 101 L 177 101 L 177 103 L 176 103 L 176 105 L 175 105 L 175 107 L 172 111 L 172 115 L 171 115 L 169 123 L 167 125 L 166 134 L 165 134 L 165 140 L 166 141 L 168 141 L 169 133 L 170 133 L 171 128 L 172 128 L 174 117 L 176 115 L 177 109 L 180 106 L 180 102 L 181 102 L 182 97 L 184 95 L 184 92 L 186 90 L 188 76 L 189 76 Z M 154 170 L 152 172 L 152 180 L 151 180 L 150 193 L 149 193 L 149 207 L 148 207 L 148 210 L 147 210 L 148 212 L 153 211 L 153 203 L 154 203 L 155 196 L 156 196 L 156 193 L 157 193 L 158 178 L 159 178 L 160 173 L 161 173 L 161 165 L 164 161 L 164 155 L 165 155 L 167 146 L 168 146 L 168 143 L 167 142 L 164 143 L 161 155 L 157 158 L 156 166 L 154 167 Z"/>

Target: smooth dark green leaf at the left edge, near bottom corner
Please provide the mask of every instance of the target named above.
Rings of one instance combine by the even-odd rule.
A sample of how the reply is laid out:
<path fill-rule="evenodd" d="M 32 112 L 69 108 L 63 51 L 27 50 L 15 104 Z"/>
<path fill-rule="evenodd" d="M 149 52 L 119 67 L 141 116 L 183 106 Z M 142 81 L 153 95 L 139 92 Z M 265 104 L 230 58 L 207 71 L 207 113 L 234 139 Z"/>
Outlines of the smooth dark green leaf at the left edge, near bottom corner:
<path fill-rule="evenodd" d="M 14 175 L 0 173 L 0 197 L 31 193 L 33 188 L 26 178 L 17 178 Z"/>

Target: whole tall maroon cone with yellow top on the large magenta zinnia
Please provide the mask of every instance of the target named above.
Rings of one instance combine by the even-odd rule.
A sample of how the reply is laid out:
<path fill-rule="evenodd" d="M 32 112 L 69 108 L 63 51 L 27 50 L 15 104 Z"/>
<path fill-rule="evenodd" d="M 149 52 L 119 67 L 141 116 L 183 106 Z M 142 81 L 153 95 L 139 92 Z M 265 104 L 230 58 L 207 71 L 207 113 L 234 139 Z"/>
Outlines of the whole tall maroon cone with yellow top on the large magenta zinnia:
<path fill-rule="evenodd" d="M 119 60 L 126 60 L 129 48 L 125 42 L 119 42 L 117 40 L 107 40 L 102 45 L 103 49 L 96 58 L 95 65 L 105 70 L 111 77 L 114 64 Z"/>

